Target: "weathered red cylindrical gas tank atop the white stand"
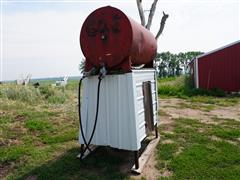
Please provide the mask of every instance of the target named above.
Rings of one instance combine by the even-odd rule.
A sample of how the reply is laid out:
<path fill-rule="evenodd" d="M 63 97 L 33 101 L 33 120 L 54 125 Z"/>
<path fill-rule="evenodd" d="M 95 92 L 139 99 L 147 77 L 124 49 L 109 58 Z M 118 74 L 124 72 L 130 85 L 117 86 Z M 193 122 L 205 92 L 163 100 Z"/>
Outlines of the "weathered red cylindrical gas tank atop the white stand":
<path fill-rule="evenodd" d="M 121 10 L 106 6 L 92 12 L 83 23 L 80 45 L 86 58 L 85 71 L 92 67 L 123 69 L 151 63 L 157 52 L 152 33 Z"/>

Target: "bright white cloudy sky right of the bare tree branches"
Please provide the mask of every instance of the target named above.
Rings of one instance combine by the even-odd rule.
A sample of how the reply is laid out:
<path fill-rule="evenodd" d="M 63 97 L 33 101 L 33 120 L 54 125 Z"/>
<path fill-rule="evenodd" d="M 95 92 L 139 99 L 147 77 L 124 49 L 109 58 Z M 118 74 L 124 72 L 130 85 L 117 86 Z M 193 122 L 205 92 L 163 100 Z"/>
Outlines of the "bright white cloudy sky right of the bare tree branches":
<path fill-rule="evenodd" d="M 160 5 L 160 4 L 159 4 Z M 158 51 L 210 51 L 240 39 L 240 2 L 235 3 L 163 3 L 170 16 Z M 153 29 L 157 29 L 155 20 Z"/>

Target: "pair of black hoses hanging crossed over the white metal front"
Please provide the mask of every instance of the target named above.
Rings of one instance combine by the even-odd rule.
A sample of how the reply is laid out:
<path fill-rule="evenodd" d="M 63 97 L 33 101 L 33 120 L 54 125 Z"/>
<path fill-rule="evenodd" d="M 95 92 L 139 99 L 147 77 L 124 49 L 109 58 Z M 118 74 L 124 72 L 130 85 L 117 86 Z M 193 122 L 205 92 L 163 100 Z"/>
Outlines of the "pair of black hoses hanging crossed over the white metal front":
<path fill-rule="evenodd" d="M 84 78 L 84 77 L 83 77 Z M 96 114 L 95 114 L 95 121 L 94 121 L 94 126 L 93 126 L 93 130 L 90 136 L 89 141 L 86 141 L 85 135 L 83 133 L 83 127 L 82 127 L 82 119 L 81 119 L 81 102 L 80 102 L 80 96 L 81 96 L 81 84 L 82 84 L 82 80 L 83 78 L 80 79 L 79 81 L 79 88 L 78 88 L 78 115 L 79 115 L 79 124 L 80 124 L 80 129 L 81 129 L 81 135 L 83 137 L 83 141 L 85 144 L 85 149 L 83 150 L 83 152 L 81 152 L 81 157 L 82 158 L 83 154 L 86 152 L 86 150 L 88 149 L 91 152 L 91 149 L 89 147 L 89 145 L 91 144 L 93 135 L 95 133 L 96 130 L 96 126 L 97 126 L 97 120 L 98 120 L 98 110 L 99 110 L 99 96 L 100 96 L 100 85 L 101 85 L 101 81 L 102 81 L 102 76 L 100 75 L 98 77 L 98 88 L 97 88 L 97 106 L 96 106 Z"/>

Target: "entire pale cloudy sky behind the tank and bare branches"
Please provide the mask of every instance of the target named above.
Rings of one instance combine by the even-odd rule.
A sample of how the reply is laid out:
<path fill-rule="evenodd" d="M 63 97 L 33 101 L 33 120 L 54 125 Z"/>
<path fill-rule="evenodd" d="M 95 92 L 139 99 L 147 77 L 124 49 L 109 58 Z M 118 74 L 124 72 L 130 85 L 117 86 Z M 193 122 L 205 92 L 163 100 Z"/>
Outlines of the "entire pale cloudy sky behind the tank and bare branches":
<path fill-rule="evenodd" d="M 136 0 L 0 0 L 0 81 L 79 76 L 79 34 L 95 9 L 111 5 L 140 22 Z M 152 0 L 143 0 L 149 10 Z M 158 52 L 208 52 L 240 39 L 240 0 L 159 0 L 151 32 L 169 14 Z M 147 16 L 148 11 L 145 12 Z"/>

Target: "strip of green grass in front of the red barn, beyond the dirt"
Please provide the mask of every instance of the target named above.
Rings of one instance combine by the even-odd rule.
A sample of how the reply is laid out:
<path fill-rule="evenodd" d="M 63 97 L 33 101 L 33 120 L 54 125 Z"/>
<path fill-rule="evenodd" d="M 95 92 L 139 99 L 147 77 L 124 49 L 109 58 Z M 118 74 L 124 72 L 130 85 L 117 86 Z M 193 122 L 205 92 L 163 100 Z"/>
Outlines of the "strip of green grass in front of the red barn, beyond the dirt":
<path fill-rule="evenodd" d="M 195 89 L 187 76 L 158 79 L 158 95 L 161 98 L 181 98 L 180 108 L 201 109 L 209 112 L 216 106 L 234 106 L 240 104 L 239 95 L 226 95 L 218 89 L 211 91 Z"/>

